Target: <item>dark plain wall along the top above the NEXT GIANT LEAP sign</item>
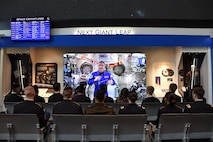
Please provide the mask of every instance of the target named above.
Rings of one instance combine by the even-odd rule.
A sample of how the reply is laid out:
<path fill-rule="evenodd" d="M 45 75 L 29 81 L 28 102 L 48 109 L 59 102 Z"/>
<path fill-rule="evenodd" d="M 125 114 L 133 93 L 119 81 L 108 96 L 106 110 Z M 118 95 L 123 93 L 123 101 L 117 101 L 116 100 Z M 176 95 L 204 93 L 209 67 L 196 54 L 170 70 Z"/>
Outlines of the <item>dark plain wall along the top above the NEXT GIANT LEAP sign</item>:
<path fill-rule="evenodd" d="M 11 17 L 35 16 L 50 16 L 52 27 L 211 27 L 213 0 L 0 0 L 0 28 Z"/>

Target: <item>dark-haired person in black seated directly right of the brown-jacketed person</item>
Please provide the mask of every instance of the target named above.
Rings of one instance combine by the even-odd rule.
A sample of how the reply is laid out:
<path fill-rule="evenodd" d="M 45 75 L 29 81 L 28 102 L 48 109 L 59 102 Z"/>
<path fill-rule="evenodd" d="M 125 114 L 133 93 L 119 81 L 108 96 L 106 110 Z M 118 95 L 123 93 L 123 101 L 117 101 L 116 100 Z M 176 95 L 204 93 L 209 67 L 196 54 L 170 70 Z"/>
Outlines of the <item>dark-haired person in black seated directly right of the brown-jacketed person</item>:
<path fill-rule="evenodd" d="M 128 103 L 125 106 L 121 106 L 119 114 L 146 114 L 144 107 L 139 107 L 135 102 L 138 99 L 138 94 L 135 91 L 130 92 L 127 97 Z"/>

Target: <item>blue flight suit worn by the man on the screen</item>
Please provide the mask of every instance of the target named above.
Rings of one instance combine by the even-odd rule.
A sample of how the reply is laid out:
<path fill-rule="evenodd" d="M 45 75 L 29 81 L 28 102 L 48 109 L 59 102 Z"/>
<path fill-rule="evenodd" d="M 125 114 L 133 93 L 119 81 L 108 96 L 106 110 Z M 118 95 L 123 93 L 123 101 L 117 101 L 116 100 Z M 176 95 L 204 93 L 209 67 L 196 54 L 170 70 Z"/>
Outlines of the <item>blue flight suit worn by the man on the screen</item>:
<path fill-rule="evenodd" d="M 99 81 L 94 81 L 97 76 L 101 76 L 101 79 Z M 94 94 L 95 94 L 95 92 L 100 89 L 100 85 L 102 84 L 107 85 L 107 82 L 109 80 L 112 80 L 113 81 L 112 85 L 115 85 L 115 81 L 112 78 L 112 74 L 110 72 L 104 71 L 103 73 L 100 73 L 99 71 L 96 71 L 91 74 L 88 80 L 88 84 L 95 85 L 95 91 L 94 91 Z M 106 92 L 106 96 L 108 96 L 107 92 Z"/>

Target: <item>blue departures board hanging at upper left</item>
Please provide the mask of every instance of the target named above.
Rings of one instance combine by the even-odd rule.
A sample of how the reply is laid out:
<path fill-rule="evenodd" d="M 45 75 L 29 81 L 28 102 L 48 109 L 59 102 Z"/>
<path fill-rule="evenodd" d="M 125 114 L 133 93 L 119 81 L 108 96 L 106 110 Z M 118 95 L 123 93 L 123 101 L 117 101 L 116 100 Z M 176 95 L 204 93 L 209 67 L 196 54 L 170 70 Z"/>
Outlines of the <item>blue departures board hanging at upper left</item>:
<path fill-rule="evenodd" d="M 50 40 L 50 18 L 11 18 L 11 40 Z"/>

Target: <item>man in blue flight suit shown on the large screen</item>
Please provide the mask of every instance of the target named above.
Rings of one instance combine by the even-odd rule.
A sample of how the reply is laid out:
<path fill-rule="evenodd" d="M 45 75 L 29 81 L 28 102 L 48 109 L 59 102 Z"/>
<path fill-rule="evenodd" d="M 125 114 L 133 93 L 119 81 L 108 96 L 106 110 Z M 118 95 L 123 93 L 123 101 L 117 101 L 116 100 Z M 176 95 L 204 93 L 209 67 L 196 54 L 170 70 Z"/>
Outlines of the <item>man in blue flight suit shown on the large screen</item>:
<path fill-rule="evenodd" d="M 98 71 L 93 72 L 88 80 L 88 84 L 95 85 L 95 91 L 102 89 L 102 85 L 115 85 L 115 81 L 112 78 L 112 75 L 110 72 L 107 72 L 105 70 L 105 63 L 103 61 L 100 61 L 98 63 Z M 106 92 L 106 96 L 108 96 L 108 93 Z"/>

